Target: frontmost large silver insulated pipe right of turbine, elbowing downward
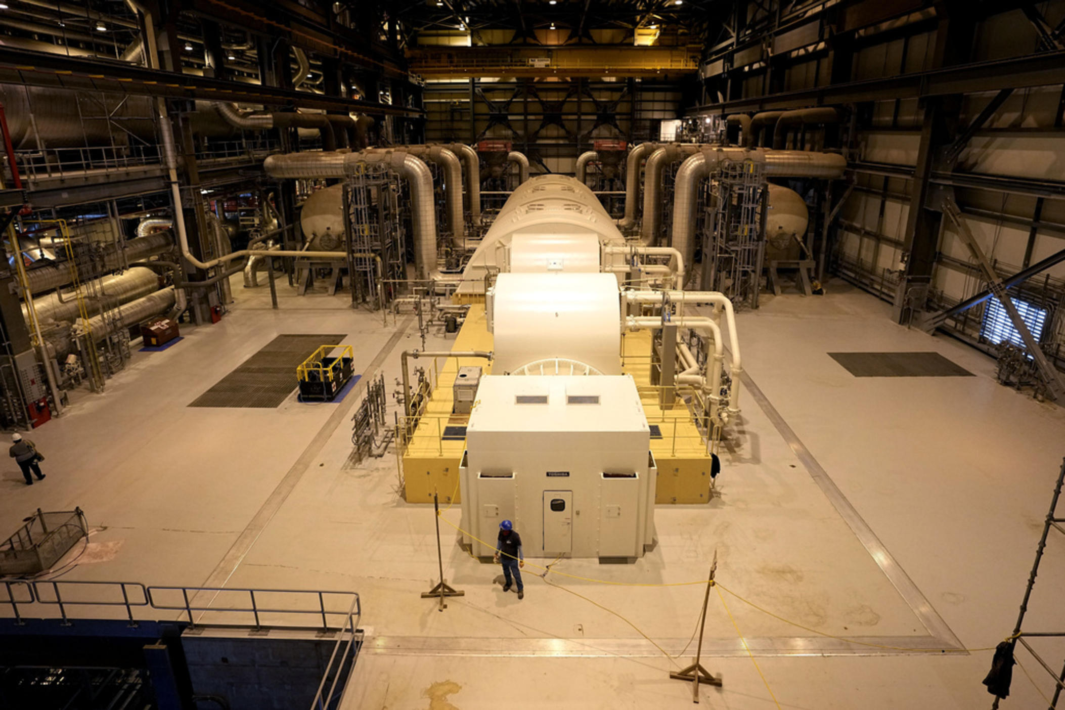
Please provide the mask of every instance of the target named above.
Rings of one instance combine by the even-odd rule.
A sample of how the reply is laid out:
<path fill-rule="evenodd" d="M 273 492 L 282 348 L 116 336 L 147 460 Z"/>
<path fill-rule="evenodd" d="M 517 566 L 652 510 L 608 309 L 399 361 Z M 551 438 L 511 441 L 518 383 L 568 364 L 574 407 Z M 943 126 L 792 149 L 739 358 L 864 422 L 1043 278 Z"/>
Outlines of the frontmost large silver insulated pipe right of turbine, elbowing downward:
<path fill-rule="evenodd" d="M 837 153 L 805 150 L 746 150 L 743 148 L 704 148 L 690 155 L 676 172 L 673 187 L 673 237 L 670 246 L 684 254 L 687 263 L 695 252 L 695 204 L 699 185 L 721 161 L 752 160 L 766 165 L 766 177 L 840 178 L 847 160 Z"/>

